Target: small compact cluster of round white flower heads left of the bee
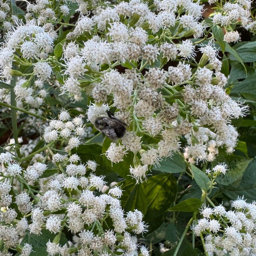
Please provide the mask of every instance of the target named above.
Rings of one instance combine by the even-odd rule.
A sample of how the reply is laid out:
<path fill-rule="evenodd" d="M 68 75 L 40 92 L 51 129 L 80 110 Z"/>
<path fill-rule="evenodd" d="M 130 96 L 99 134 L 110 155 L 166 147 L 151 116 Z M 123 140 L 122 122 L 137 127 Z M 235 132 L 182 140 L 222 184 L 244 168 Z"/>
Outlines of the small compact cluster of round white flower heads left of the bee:
<path fill-rule="evenodd" d="M 65 109 L 60 112 L 58 120 L 51 120 L 44 128 L 44 141 L 46 143 L 55 140 L 67 142 L 66 151 L 77 148 L 81 144 L 81 139 L 85 136 L 86 132 L 82 116 L 71 118 Z"/>

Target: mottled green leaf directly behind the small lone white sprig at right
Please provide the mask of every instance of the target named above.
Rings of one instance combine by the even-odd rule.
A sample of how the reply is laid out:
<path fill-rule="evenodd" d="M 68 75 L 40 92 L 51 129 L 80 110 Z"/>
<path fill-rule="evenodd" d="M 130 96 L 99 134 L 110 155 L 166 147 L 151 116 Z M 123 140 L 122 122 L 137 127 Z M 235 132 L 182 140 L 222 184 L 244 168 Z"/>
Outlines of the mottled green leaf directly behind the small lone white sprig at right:
<path fill-rule="evenodd" d="M 227 155 L 223 151 L 220 152 L 216 161 L 212 163 L 213 166 L 218 163 L 224 162 L 228 165 L 228 171 L 226 174 L 221 174 L 217 177 L 216 181 L 218 184 L 229 185 L 234 181 L 240 179 L 247 167 L 247 165 L 252 161 L 252 159 L 244 156 L 236 156 L 233 154 Z"/>

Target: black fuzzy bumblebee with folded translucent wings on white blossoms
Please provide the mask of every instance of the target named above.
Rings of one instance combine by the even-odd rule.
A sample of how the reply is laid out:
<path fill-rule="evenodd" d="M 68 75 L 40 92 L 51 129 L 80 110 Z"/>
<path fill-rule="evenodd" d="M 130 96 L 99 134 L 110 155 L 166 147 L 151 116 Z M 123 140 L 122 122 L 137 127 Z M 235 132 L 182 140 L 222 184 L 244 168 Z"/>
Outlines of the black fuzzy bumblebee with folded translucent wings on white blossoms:
<path fill-rule="evenodd" d="M 108 112 L 108 116 L 100 115 L 94 120 L 94 127 L 113 141 L 117 141 L 124 136 L 126 126 L 127 124 L 117 119 L 110 112 Z"/>

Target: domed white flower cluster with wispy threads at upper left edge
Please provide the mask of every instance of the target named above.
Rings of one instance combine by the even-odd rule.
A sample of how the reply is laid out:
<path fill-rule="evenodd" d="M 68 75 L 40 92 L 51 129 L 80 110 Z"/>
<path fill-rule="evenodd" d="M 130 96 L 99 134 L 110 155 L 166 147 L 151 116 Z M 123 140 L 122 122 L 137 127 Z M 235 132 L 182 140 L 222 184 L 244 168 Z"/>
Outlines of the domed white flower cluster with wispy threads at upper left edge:
<path fill-rule="evenodd" d="M 46 59 L 53 50 L 52 37 L 34 21 L 26 25 L 18 23 L 4 35 L 4 38 L 4 44 L 0 48 L 0 73 L 6 79 L 11 78 L 13 60 L 19 58 L 16 50 L 19 50 L 27 63 L 30 63 L 29 60 Z M 38 61 L 34 64 L 34 73 L 44 81 L 50 77 L 52 69 L 47 62 Z"/>

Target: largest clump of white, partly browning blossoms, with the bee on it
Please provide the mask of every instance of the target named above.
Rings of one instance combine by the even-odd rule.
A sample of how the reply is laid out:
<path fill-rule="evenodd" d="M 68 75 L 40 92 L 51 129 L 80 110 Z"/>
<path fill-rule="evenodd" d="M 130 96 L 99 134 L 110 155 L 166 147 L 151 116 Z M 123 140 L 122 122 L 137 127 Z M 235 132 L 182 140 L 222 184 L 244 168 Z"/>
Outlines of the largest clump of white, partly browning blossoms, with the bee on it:
<path fill-rule="evenodd" d="M 203 35 L 205 25 L 198 21 L 202 9 L 190 0 L 186 4 L 155 1 L 151 7 L 134 0 L 102 9 L 93 17 L 82 16 L 69 32 L 72 41 L 63 47 L 65 79 L 60 90 L 78 101 L 83 99 L 84 90 L 94 100 L 86 112 L 88 121 L 93 123 L 110 109 L 127 124 L 121 142 L 113 142 L 106 151 L 112 163 L 124 161 L 131 151 L 134 159 L 140 160 L 131 168 L 140 165 L 148 170 L 182 150 L 183 136 L 187 139 L 183 150 L 192 162 L 215 160 L 220 147 L 227 153 L 234 151 L 238 133 L 230 120 L 246 115 L 247 107 L 232 100 L 223 89 L 227 78 L 220 72 L 214 41 L 199 47 L 203 56 L 192 69 L 189 61 L 193 62 L 199 45 L 182 39 Z M 82 27 L 82 23 L 87 26 Z M 175 24 L 179 29 L 170 34 Z M 96 26 L 100 33 L 95 33 Z M 78 36 L 87 38 L 83 45 L 76 43 Z M 180 42 L 174 44 L 174 37 Z M 228 32 L 225 40 L 237 41 L 239 35 Z M 177 65 L 168 64 L 170 60 Z M 116 66 L 123 66 L 122 72 Z M 154 143 L 142 146 L 141 141 L 148 137 L 153 137 Z"/>

